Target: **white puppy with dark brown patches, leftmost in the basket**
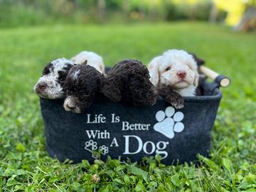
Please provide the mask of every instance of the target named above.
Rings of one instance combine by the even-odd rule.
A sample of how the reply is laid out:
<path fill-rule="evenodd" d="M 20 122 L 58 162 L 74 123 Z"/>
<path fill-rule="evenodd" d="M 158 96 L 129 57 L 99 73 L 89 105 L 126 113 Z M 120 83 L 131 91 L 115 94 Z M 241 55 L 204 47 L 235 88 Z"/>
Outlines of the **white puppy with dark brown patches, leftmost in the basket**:
<path fill-rule="evenodd" d="M 40 97 L 50 100 L 63 98 L 65 96 L 64 81 L 68 71 L 74 65 L 73 62 L 65 58 L 58 58 L 48 63 L 34 87 L 35 92 Z"/>

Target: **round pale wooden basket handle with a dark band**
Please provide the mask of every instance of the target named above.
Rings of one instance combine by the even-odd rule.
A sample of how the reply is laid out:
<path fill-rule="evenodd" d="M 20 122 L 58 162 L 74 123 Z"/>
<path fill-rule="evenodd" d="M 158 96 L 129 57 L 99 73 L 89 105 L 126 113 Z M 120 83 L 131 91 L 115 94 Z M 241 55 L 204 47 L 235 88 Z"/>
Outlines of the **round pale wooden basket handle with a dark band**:
<path fill-rule="evenodd" d="M 219 86 L 228 87 L 230 85 L 230 79 L 224 75 L 219 75 L 215 71 L 206 68 L 206 66 L 201 65 L 201 72 L 206 75 L 206 77 L 213 79 Z"/>

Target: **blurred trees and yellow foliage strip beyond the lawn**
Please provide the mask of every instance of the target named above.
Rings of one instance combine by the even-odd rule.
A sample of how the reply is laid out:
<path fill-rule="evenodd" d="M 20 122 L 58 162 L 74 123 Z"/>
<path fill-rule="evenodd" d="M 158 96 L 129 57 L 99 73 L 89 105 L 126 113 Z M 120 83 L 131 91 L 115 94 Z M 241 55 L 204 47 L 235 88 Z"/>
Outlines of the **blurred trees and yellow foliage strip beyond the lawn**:
<path fill-rule="evenodd" d="M 255 0 L 1 0 L 0 27 L 178 20 L 255 29 Z M 242 18 L 243 21 L 241 25 Z"/>

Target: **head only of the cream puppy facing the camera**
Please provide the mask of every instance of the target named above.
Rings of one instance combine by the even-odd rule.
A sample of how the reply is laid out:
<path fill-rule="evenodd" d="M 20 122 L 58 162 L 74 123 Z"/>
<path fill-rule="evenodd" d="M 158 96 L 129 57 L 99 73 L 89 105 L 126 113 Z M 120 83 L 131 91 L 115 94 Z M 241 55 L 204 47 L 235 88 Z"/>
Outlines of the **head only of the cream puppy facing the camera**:
<path fill-rule="evenodd" d="M 193 56 L 184 50 L 167 50 L 154 67 L 153 79 L 161 85 L 183 89 L 198 85 L 198 71 Z"/>

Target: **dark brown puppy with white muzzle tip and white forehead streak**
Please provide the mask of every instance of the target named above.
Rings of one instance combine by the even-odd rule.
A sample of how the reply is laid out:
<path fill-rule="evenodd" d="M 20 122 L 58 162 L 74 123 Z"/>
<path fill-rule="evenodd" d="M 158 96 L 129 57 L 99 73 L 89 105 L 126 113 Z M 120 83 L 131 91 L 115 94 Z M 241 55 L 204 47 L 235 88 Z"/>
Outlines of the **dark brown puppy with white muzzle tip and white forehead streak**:
<path fill-rule="evenodd" d="M 90 65 L 75 65 L 65 80 L 66 111 L 84 112 L 100 91 L 102 74 Z"/>

